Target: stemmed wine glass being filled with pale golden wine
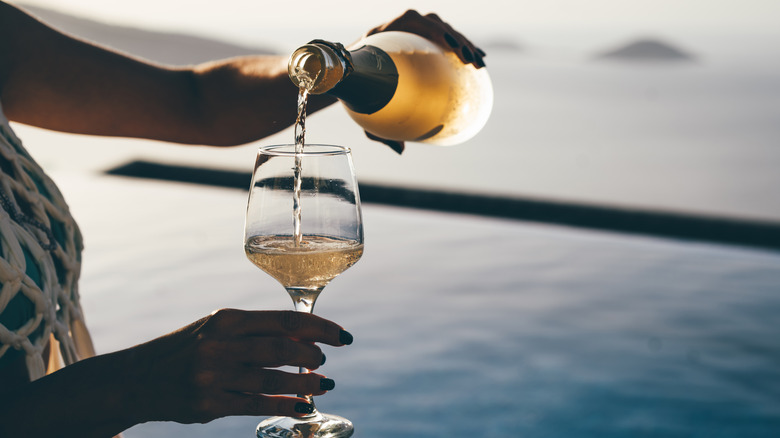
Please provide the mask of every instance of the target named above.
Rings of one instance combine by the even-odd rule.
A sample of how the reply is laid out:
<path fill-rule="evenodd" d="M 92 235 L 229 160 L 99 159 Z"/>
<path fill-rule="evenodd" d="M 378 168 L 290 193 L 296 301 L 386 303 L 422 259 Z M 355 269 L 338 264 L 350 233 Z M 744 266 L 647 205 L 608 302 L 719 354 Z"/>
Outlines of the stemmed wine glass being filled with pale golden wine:
<path fill-rule="evenodd" d="M 244 226 L 247 257 L 287 289 L 295 310 L 311 313 L 322 289 L 363 254 L 360 197 L 350 150 L 307 144 L 261 147 Z M 309 372 L 305 368 L 301 373 Z M 299 395 L 314 406 L 312 397 Z M 352 423 L 314 412 L 273 417 L 262 437 L 349 437 Z"/>

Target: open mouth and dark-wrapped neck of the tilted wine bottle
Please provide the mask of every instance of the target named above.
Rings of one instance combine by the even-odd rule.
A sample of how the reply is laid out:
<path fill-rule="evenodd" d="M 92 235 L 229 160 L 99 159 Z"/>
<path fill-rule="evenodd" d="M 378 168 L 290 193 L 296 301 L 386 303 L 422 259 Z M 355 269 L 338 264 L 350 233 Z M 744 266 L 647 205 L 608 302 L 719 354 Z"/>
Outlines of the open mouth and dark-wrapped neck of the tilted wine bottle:
<path fill-rule="evenodd" d="M 311 94 L 327 93 L 350 110 L 372 114 L 395 94 L 398 70 L 390 56 L 374 46 L 347 51 L 341 44 L 314 40 L 290 57 L 290 79 Z"/>

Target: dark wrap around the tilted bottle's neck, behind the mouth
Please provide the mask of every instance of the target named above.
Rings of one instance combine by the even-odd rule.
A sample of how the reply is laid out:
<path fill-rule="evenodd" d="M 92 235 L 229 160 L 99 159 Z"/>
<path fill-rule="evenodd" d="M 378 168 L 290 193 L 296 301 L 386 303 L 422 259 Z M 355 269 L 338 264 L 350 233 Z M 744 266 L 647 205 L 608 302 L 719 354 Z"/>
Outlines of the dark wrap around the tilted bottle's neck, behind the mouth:
<path fill-rule="evenodd" d="M 351 50 L 350 55 L 354 69 L 328 94 L 356 113 L 373 114 L 393 98 L 398 69 L 390 55 L 374 46 Z"/>

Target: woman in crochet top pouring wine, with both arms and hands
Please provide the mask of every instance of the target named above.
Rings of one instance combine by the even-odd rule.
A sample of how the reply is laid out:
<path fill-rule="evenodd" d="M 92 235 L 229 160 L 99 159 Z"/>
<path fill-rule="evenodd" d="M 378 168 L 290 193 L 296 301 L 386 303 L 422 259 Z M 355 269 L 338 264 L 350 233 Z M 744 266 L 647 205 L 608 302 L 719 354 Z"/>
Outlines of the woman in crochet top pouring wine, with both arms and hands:
<path fill-rule="evenodd" d="M 369 33 L 386 30 L 420 34 L 484 65 L 484 53 L 433 14 L 408 11 Z M 325 361 L 316 343 L 352 342 L 339 325 L 295 312 L 220 310 L 148 343 L 94 356 L 78 303 L 78 228 L 8 126 L 240 145 L 295 121 L 297 90 L 286 63 L 253 56 L 154 65 L 59 33 L 0 2 L 0 436 L 110 437 L 152 420 L 302 416 L 311 406 L 283 394 L 333 388 L 317 373 L 275 369 L 315 370 Z M 334 102 L 312 96 L 308 109 Z"/>

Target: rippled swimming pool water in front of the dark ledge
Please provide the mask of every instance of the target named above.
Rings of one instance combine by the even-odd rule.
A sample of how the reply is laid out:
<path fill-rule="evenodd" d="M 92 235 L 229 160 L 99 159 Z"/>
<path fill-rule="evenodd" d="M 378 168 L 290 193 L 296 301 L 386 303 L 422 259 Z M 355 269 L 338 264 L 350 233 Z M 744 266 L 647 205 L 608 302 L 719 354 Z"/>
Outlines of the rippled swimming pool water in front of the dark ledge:
<path fill-rule="evenodd" d="M 106 195 L 99 207 L 70 199 L 101 351 L 217 307 L 289 308 L 242 254 L 245 193 L 61 181 Z M 316 309 L 355 335 L 326 347 L 321 371 L 336 389 L 318 398 L 355 436 L 780 431 L 777 252 L 373 205 L 364 214 L 363 259 Z M 150 423 L 126 436 L 252 436 L 257 422 Z"/>

